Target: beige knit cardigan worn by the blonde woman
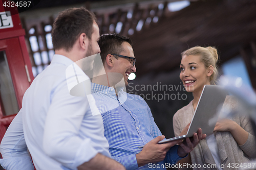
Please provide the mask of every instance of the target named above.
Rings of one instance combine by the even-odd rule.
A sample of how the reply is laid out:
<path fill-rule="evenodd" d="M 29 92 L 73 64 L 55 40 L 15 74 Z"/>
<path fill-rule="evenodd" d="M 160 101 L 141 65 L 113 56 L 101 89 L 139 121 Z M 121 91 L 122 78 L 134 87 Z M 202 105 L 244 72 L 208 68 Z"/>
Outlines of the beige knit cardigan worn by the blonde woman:
<path fill-rule="evenodd" d="M 231 109 L 236 109 L 238 106 L 237 100 L 233 96 L 227 96 L 223 107 L 228 106 Z M 193 118 L 195 110 L 193 107 L 192 101 L 187 105 L 178 110 L 173 118 L 173 126 L 175 136 L 179 136 L 181 131 Z M 223 169 L 238 169 L 238 168 L 228 168 L 227 165 L 230 163 L 239 163 L 247 162 L 250 157 L 256 156 L 256 139 L 252 135 L 253 130 L 250 125 L 250 121 L 245 116 L 234 116 L 229 118 L 240 125 L 244 130 L 249 133 L 247 141 L 243 145 L 238 145 L 236 140 L 230 132 L 215 132 L 215 137 L 217 140 L 217 146 L 219 150 L 219 156 L 221 159 L 221 164 L 225 163 Z M 208 148 L 206 140 L 203 139 L 197 145 L 197 147 L 190 153 L 192 164 L 201 164 L 201 168 L 204 164 L 216 164 L 214 158 L 211 155 L 211 152 Z M 199 168 L 194 168 L 199 169 Z M 216 169 L 216 168 L 203 168 L 203 169 Z"/>

